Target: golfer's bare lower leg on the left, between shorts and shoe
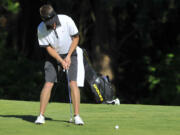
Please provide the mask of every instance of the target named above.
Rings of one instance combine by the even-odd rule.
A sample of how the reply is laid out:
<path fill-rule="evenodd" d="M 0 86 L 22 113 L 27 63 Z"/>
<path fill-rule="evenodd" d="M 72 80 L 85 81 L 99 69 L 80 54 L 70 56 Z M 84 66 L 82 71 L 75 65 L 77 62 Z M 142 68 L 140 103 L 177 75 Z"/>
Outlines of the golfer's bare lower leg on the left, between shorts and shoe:
<path fill-rule="evenodd" d="M 40 95 L 40 114 L 44 115 L 46 106 L 49 102 L 51 96 L 51 90 L 53 88 L 54 83 L 52 82 L 45 82 L 44 87 L 41 91 Z"/>

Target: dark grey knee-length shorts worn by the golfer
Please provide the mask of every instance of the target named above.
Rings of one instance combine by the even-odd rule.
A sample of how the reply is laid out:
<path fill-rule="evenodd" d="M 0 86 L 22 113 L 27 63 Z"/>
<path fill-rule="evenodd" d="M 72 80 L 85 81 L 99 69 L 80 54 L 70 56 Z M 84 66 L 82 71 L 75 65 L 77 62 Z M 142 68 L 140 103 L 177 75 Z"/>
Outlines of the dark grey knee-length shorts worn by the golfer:
<path fill-rule="evenodd" d="M 67 54 L 60 54 L 64 59 Z M 70 81 L 77 81 L 77 53 L 73 52 L 71 55 L 71 65 L 68 70 L 68 77 Z M 62 66 L 54 58 L 47 55 L 44 65 L 45 81 L 46 82 L 57 82 L 58 72 L 62 71 Z"/>

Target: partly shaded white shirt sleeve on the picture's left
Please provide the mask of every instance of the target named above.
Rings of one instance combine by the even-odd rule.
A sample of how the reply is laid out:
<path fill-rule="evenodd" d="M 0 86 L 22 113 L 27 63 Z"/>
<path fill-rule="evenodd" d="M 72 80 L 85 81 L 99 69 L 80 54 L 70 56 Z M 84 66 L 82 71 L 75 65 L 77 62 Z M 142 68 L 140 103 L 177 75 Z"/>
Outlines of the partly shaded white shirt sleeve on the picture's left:
<path fill-rule="evenodd" d="M 37 36 L 38 36 L 38 42 L 39 42 L 40 47 L 46 47 L 49 45 L 49 42 L 46 39 L 46 36 L 43 34 L 43 32 L 39 28 L 37 30 Z"/>

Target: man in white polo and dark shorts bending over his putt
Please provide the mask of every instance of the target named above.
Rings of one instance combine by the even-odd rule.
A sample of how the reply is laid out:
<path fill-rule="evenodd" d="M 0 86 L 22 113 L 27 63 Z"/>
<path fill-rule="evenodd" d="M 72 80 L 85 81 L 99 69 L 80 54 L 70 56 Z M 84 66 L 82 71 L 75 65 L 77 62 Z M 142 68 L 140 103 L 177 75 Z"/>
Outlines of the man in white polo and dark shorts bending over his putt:
<path fill-rule="evenodd" d="M 74 21 L 66 15 L 56 14 L 49 4 L 40 7 L 42 22 L 38 26 L 38 41 L 45 47 L 48 56 L 45 61 L 45 84 L 40 95 L 40 115 L 36 124 L 45 123 L 45 109 L 49 102 L 51 90 L 57 82 L 58 65 L 68 71 L 69 85 L 74 108 L 74 123 L 83 125 L 79 115 L 80 91 L 77 84 L 78 60 L 77 49 L 79 42 L 78 29 Z"/>

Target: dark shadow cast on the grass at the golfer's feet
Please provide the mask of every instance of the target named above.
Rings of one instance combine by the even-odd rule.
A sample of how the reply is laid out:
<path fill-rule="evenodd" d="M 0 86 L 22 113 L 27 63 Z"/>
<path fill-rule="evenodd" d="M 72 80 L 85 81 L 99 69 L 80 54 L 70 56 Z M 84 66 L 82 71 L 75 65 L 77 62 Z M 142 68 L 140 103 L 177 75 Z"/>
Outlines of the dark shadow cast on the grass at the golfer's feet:
<path fill-rule="evenodd" d="M 34 123 L 34 121 L 36 120 L 37 116 L 33 116 L 33 115 L 0 115 L 0 117 L 5 117 L 5 118 L 19 118 L 22 119 L 24 121 L 28 121 L 31 123 Z M 69 121 L 67 120 L 54 120 L 52 118 L 46 117 L 47 121 L 57 121 L 57 122 L 64 122 L 64 123 L 69 123 Z"/>

